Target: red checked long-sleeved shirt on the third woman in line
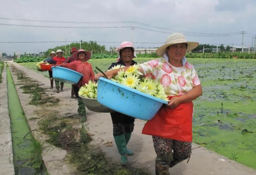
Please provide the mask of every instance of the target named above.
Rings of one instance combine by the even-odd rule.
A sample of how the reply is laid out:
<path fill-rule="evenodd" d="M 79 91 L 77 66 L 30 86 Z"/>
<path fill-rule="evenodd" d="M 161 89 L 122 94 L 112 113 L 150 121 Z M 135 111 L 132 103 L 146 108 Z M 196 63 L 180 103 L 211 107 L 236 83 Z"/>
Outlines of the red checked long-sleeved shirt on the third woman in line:
<path fill-rule="evenodd" d="M 84 84 L 87 84 L 89 80 L 94 80 L 93 67 L 90 63 L 82 63 L 79 60 L 75 60 L 72 63 L 63 63 L 62 66 L 68 69 L 72 69 L 83 75 L 82 81 L 79 81 L 76 86 L 81 87 L 84 86 Z"/>

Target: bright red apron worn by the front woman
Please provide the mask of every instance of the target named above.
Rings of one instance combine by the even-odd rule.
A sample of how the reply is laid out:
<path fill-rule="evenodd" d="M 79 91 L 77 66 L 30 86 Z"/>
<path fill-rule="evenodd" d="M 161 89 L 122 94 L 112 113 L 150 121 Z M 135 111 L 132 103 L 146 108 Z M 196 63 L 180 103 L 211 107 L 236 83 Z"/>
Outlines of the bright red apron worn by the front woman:
<path fill-rule="evenodd" d="M 176 108 L 165 105 L 149 120 L 142 133 L 177 141 L 192 141 L 193 102 L 180 103 Z"/>

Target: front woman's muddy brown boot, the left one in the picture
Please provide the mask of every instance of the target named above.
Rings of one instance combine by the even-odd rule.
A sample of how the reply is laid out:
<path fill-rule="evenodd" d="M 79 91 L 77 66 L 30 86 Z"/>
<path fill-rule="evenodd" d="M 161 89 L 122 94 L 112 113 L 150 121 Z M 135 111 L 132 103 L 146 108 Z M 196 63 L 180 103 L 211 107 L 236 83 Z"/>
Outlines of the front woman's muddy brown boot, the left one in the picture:
<path fill-rule="evenodd" d="M 169 175 L 169 164 L 172 161 L 172 153 L 157 155 L 156 158 L 156 175 Z"/>

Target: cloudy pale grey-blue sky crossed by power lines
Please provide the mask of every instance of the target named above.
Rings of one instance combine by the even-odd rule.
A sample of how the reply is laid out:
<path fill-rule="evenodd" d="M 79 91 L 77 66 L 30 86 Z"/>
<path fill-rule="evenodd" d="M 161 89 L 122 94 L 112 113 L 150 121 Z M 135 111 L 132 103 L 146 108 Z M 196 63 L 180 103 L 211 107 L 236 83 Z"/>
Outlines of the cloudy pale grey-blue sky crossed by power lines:
<path fill-rule="evenodd" d="M 244 31 L 244 47 L 251 47 L 256 34 L 256 0 L 1 1 L 0 52 L 8 55 L 38 53 L 65 42 L 4 42 L 93 40 L 109 49 L 119 47 L 122 41 L 131 41 L 135 47 L 147 48 L 159 47 L 169 34 L 180 32 L 188 41 L 241 46 L 239 32 Z"/>

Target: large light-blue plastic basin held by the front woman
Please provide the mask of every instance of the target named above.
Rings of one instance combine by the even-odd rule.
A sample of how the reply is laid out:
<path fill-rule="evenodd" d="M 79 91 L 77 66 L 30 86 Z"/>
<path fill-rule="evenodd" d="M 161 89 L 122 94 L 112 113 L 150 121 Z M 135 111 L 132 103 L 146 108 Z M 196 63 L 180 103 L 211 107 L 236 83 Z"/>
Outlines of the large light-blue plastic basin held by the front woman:
<path fill-rule="evenodd" d="M 98 81 L 97 100 L 116 112 L 142 120 L 151 120 L 163 104 L 168 104 L 165 100 L 103 77 Z"/>

